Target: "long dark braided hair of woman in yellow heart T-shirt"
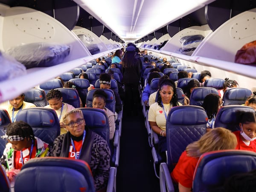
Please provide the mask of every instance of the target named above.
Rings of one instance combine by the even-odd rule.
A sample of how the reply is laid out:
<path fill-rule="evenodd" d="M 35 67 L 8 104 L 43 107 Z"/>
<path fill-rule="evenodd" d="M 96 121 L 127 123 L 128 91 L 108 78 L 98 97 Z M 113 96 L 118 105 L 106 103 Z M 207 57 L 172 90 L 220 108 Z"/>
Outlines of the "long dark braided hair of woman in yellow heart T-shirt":
<path fill-rule="evenodd" d="M 159 89 L 157 90 L 157 104 L 160 106 L 160 107 L 163 107 L 162 105 L 162 98 L 161 98 L 161 95 L 160 95 L 160 90 L 162 90 L 163 86 L 164 85 L 169 85 L 172 87 L 173 89 L 173 96 L 172 96 L 172 99 L 170 101 L 171 105 L 174 107 L 174 106 L 178 106 L 178 96 L 177 96 L 177 91 L 176 91 L 176 86 L 175 86 L 175 83 L 169 79 L 168 76 L 163 76 L 159 79 L 159 82 L 158 82 L 158 87 Z"/>

